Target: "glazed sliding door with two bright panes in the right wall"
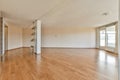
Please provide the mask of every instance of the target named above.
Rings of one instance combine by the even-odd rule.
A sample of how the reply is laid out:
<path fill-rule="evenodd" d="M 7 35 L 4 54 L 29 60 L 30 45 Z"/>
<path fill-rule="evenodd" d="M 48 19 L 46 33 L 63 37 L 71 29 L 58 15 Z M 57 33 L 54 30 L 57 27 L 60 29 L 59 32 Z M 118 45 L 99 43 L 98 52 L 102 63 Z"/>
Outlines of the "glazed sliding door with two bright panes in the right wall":
<path fill-rule="evenodd" d="M 116 24 L 99 28 L 99 48 L 116 52 L 117 50 L 117 30 Z"/>

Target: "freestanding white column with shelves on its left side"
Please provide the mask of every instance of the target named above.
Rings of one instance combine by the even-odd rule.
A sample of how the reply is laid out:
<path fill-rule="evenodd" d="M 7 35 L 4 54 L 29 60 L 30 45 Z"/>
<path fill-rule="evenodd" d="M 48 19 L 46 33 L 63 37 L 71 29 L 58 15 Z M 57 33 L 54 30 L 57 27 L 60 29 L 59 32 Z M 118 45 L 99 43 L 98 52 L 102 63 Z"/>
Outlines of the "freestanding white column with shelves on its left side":
<path fill-rule="evenodd" d="M 35 22 L 35 53 L 41 54 L 41 21 Z"/>

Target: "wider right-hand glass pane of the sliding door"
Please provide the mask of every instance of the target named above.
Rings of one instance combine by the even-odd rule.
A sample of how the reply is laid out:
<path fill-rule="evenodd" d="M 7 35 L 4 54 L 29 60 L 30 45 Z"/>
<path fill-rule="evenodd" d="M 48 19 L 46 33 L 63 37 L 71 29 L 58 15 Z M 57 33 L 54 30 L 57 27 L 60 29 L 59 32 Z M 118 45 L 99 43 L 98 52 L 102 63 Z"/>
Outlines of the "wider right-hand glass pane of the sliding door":
<path fill-rule="evenodd" d="M 107 46 L 108 47 L 115 47 L 115 26 L 110 26 L 106 28 L 107 32 Z"/>

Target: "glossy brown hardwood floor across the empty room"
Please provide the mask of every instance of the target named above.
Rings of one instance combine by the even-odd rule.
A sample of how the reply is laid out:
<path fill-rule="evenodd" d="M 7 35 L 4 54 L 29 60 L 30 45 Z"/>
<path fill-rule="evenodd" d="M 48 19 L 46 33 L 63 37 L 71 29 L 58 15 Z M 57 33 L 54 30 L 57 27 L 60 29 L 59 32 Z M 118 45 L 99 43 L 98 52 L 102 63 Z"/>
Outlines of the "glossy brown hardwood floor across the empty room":
<path fill-rule="evenodd" d="M 97 49 L 28 48 L 8 51 L 0 62 L 0 80 L 118 80 L 117 56 Z"/>

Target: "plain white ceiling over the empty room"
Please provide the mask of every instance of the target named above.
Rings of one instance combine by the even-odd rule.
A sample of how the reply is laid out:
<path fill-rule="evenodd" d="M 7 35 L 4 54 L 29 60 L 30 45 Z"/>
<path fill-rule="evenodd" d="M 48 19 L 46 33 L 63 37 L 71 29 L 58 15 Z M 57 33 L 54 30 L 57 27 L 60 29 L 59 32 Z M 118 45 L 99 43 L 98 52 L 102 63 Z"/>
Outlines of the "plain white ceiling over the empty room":
<path fill-rule="evenodd" d="M 96 27 L 118 20 L 119 0 L 0 0 L 8 22 L 28 27 L 36 19 L 44 26 Z M 107 12 L 107 16 L 102 14 Z"/>

